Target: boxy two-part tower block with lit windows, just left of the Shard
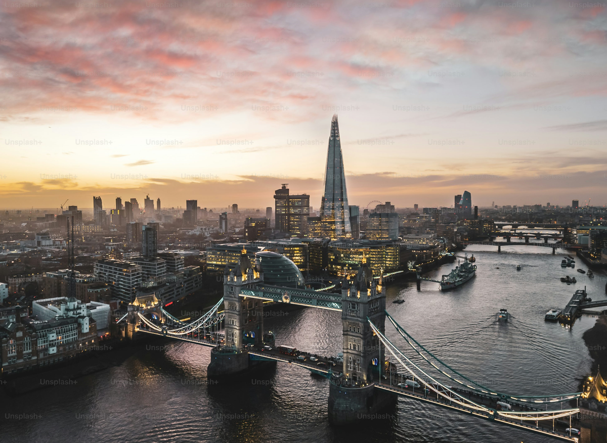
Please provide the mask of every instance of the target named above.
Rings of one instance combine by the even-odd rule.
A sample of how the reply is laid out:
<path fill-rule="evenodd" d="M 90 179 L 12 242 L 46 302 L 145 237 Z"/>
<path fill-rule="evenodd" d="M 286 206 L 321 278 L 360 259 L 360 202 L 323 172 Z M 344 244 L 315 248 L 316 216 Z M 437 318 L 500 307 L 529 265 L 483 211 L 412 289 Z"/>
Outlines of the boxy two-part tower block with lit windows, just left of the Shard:
<path fill-rule="evenodd" d="M 274 227 L 280 232 L 294 235 L 308 233 L 310 216 L 310 196 L 308 194 L 289 194 L 288 183 L 274 192 L 276 222 Z"/>

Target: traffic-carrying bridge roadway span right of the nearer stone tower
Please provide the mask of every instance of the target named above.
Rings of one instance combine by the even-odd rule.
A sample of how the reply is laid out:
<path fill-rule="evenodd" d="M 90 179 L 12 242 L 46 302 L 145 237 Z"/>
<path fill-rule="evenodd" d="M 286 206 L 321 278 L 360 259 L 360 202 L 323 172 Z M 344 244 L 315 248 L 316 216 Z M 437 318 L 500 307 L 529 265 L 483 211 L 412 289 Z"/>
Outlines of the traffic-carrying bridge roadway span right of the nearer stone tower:
<path fill-rule="evenodd" d="M 400 376 L 398 376 L 398 377 L 400 377 Z M 398 379 L 397 380 L 393 380 L 392 383 L 390 383 L 390 381 L 388 381 L 386 383 L 386 380 L 382 380 L 382 382 L 376 384 L 375 387 L 378 388 L 378 389 L 382 389 L 382 390 L 385 390 L 385 391 L 390 391 L 390 392 L 396 393 L 396 394 L 404 396 L 404 397 L 409 397 L 410 399 L 414 399 L 414 400 L 419 400 L 419 401 L 422 401 L 422 402 L 430 403 L 430 404 L 433 404 L 435 406 L 440 406 L 440 407 L 444 407 L 444 408 L 450 408 L 450 409 L 459 411 L 461 413 L 470 414 L 470 415 L 473 415 L 473 416 L 476 416 L 476 417 L 481 417 L 481 418 L 484 418 L 486 420 L 500 422 L 500 423 L 503 423 L 503 424 L 506 424 L 506 425 L 510 425 L 510 426 L 514 426 L 514 427 L 517 427 L 517 428 L 523 428 L 525 430 L 534 431 L 534 432 L 538 432 L 538 433 L 541 433 L 541 434 L 546 434 L 547 436 L 551 436 L 551 437 L 554 437 L 554 438 L 559 438 L 559 439 L 566 440 L 566 441 L 574 441 L 574 442 L 578 441 L 577 436 L 570 436 L 568 433 L 565 432 L 565 429 L 568 428 L 569 425 L 568 424 L 564 424 L 563 422 L 560 422 L 560 421 L 553 421 L 552 428 L 544 428 L 544 427 L 540 427 L 538 423 L 535 426 L 533 426 L 531 424 L 527 424 L 527 422 L 524 422 L 524 421 L 517 421 L 515 419 L 509 419 L 507 417 L 498 416 L 495 413 L 492 416 L 490 416 L 489 414 L 484 413 L 484 411 L 476 411 L 476 410 L 468 409 L 468 408 L 463 407 L 463 406 L 458 405 L 458 404 L 453 404 L 452 402 L 450 402 L 449 400 L 445 399 L 444 397 L 439 396 L 438 394 L 436 394 L 436 398 L 435 398 L 431 394 L 431 393 L 433 393 L 433 391 L 428 390 L 426 388 L 426 386 L 422 386 L 420 388 L 415 388 L 415 389 L 413 389 L 413 388 L 401 388 L 401 387 L 398 386 L 398 384 L 396 382 L 398 382 Z M 470 391 L 461 390 L 461 389 L 458 389 L 458 388 L 452 388 L 452 390 L 453 391 L 457 391 L 459 394 L 470 393 Z M 447 393 L 448 393 L 448 391 L 447 391 Z M 475 393 L 470 393 L 470 394 L 474 395 Z M 483 396 L 476 395 L 476 396 L 471 397 L 471 398 L 473 398 L 473 400 L 476 403 L 478 403 L 478 404 L 481 404 L 481 405 L 486 406 L 486 407 L 495 408 L 497 400 L 490 401 L 488 398 L 487 399 L 482 399 L 482 397 Z M 517 408 L 517 406 L 520 407 L 520 405 L 513 405 L 512 411 L 521 410 L 520 408 Z M 523 409 L 523 410 L 525 410 L 525 409 Z M 541 411 L 541 410 L 535 409 L 535 408 L 533 408 L 532 410 L 534 410 L 534 411 Z"/>

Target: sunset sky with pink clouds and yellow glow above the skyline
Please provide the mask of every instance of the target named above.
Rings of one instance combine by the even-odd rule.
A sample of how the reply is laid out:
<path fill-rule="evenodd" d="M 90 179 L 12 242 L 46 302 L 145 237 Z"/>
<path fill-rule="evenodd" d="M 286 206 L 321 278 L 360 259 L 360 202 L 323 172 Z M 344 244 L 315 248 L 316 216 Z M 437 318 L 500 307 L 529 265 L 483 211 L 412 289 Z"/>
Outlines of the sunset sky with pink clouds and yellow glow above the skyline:
<path fill-rule="evenodd" d="M 606 52 L 600 2 L 2 1 L 0 208 L 318 208 L 333 114 L 350 204 L 605 205 Z"/>

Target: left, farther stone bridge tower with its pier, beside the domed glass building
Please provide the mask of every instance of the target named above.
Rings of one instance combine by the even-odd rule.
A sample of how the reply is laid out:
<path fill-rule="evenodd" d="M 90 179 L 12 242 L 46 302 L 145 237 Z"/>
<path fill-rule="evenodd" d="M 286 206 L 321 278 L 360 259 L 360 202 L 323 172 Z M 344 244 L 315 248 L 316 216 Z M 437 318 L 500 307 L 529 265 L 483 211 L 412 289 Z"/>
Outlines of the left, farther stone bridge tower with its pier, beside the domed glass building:
<path fill-rule="evenodd" d="M 236 267 L 223 274 L 225 343 L 211 351 L 209 377 L 242 373 L 249 366 L 244 345 L 260 345 L 263 340 L 263 304 L 255 298 L 240 297 L 243 290 L 254 289 L 263 281 L 243 249 Z"/>

